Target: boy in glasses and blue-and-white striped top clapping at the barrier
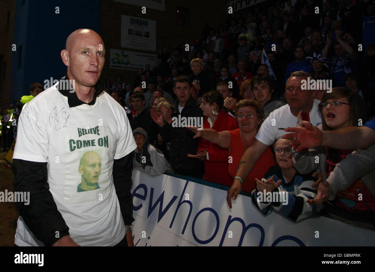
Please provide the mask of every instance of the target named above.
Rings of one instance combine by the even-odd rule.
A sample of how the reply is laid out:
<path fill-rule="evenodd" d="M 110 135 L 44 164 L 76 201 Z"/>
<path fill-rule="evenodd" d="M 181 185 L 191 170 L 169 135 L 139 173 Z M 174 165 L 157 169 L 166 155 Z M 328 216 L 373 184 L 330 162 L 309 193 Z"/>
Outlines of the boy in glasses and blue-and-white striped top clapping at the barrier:
<path fill-rule="evenodd" d="M 263 214 L 268 214 L 275 209 L 290 220 L 298 222 L 309 216 L 315 216 L 323 205 L 306 203 L 306 200 L 314 199 L 317 195 L 312 189 L 314 181 L 311 173 L 300 174 L 294 168 L 289 142 L 290 140 L 281 138 L 275 143 L 278 165 L 271 166 L 264 174 L 263 180 L 255 179 L 257 188 L 252 191 L 251 196 L 254 205 Z"/>

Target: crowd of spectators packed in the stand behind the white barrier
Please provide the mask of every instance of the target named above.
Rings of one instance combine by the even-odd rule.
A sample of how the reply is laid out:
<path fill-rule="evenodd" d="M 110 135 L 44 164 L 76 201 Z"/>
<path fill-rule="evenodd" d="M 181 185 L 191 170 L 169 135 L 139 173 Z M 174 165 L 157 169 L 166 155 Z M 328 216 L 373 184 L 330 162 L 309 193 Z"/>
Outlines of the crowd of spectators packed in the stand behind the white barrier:
<path fill-rule="evenodd" d="M 135 168 L 231 186 L 229 207 L 243 190 L 253 193 L 264 214 L 276 209 L 299 221 L 324 210 L 306 203 L 317 196 L 315 177 L 326 180 L 354 149 L 320 146 L 302 153 L 280 139 L 285 128 L 303 127 L 301 111 L 324 130 L 373 118 L 374 8 L 369 0 L 267 1 L 159 50 L 156 66 L 139 68 L 132 83 L 121 75 L 114 84 L 103 80 L 128 115 Z M 270 67 L 262 64 L 263 51 Z M 303 80 L 332 84 L 303 90 Z M 202 129 L 175 125 L 181 118 L 202 118 Z M 375 229 L 374 216 L 364 219 L 375 211 L 375 192 L 367 184 L 356 176 L 336 192 L 332 217 L 356 213 L 352 222 L 366 224 L 354 225 Z M 254 195 L 263 190 L 289 192 L 288 207 L 258 201 Z M 358 193 L 365 202 L 356 200 Z"/>

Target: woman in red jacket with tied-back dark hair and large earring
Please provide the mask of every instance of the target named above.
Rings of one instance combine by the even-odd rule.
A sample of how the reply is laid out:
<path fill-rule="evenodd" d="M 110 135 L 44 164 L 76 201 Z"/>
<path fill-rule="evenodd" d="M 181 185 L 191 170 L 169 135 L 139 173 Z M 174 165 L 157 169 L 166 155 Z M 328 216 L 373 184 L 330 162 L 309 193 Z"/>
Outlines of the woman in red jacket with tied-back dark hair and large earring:
<path fill-rule="evenodd" d="M 208 92 L 202 97 L 199 108 L 206 116 L 203 128 L 214 129 L 217 132 L 235 130 L 238 128 L 236 119 L 222 111 L 224 105 L 223 96 L 219 92 Z M 204 161 L 204 179 L 224 185 L 231 185 L 233 179 L 229 176 L 229 150 L 219 145 L 200 138 L 197 155 L 187 155 L 190 158 L 198 158 Z"/>

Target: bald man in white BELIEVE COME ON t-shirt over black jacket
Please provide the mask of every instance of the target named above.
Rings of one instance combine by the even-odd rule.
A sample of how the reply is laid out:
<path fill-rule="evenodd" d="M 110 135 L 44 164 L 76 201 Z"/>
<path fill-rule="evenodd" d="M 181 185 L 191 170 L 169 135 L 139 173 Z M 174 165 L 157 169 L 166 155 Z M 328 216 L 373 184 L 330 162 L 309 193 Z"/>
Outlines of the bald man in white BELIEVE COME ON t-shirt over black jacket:
<path fill-rule="evenodd" d="M 76 30 L 60 55 L 65 77 L 19 117 L 13 186 L 31 200 L 16 203 L 15 244 L 133 245 L 129 154 L 136 144 L 124 108 L 100 80 L 103 40 L 93 30 Z"/>

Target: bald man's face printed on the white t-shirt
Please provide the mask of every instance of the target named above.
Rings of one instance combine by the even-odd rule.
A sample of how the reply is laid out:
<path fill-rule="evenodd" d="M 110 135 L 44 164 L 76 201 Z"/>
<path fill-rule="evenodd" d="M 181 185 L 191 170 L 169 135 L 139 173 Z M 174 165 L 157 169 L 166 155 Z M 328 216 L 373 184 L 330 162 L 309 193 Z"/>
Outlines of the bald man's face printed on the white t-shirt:
<path fill-rule="evenodd" d="M 81 175 L 81 183 L 77 186 L 77 192 L 85 192 L 99 189 L 99 176 L 102 170 L 100 156 L 95 151 L 87 151 L 80 160 L 78 172 Z"/>

